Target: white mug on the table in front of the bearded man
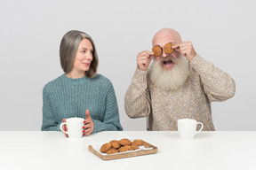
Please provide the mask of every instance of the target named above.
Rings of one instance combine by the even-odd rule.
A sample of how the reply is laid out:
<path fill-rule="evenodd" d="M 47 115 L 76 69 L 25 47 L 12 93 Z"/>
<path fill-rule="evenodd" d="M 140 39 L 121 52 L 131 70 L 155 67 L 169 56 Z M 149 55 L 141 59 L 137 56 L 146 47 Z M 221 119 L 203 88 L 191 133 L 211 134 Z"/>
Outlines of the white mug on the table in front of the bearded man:
<path fill-rule="evenodd" d="M 196 131 L 197 125 L 200 124 L 201 128 Z M 204 128 L 203 123 L 197 122 L 192 119 L 181 119 L 178 120 L 178 132 L 181 139 L 193 139 L 196 134 L 201 132 Z"/>

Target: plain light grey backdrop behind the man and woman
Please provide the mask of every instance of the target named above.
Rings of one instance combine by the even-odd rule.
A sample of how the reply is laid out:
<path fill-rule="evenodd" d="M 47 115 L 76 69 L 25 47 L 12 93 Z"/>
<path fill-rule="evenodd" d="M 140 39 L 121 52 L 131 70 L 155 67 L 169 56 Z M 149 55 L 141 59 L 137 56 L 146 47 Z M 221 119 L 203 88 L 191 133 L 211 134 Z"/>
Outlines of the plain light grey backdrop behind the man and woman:
<path fill-rule="evenodd" d="M 124 112 L 136 56 L 163 27 L 236 81 L 236 95 L 212 103 L 216 130 L 256 130 L 256 1 L 8 0 L 0 3 L 0 130 L 40 130 L 44 84 L 63 73 L 60 40 L 69 30 L 92 36 L 99 73 L 112 81 L 124 130 L 146 130 Z"/>

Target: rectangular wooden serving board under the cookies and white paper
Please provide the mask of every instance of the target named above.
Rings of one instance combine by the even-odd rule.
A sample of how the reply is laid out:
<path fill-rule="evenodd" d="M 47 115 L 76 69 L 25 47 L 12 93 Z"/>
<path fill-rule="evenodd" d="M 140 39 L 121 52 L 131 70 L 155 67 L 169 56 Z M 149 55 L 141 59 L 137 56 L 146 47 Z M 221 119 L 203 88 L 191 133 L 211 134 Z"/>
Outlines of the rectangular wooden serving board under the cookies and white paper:
<path fill-rule="evenodd" d="M 102 160 L 112 160 L 116 158 L 129 158 L 129 157 L 136 157 L 141 155 L 148 155 L 153 154 L 157 152 L 156 146 L 146 143 L 143 141 L 143 145 L 145 148 L 153 148 L 152 150 L 142 150 L 142 151 L 133 151 L 133 152 L 126 152 L 126 153 L 118 153 L 118 154 L 109 154 L 109 155 L 102 155 L 98 151 L 95 151 L 92 147 L 92 145 L 88 146 L 88 150 L 91 151 L 93 154 L 95 154 L 97 157 L 101 158 Z"/>

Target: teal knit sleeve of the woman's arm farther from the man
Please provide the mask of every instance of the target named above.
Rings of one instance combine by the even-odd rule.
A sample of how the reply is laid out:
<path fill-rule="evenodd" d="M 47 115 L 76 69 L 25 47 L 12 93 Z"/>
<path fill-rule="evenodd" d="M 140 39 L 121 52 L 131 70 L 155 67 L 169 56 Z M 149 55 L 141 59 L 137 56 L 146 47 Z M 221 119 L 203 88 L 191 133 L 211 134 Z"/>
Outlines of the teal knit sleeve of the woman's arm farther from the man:
<path fill-rule="evenodd" d="M 61 122 L 55 122 L 53 118 L 52 104 L 47 92 L 47 88 L 43 89 L 43 123 L 42 131 L 60 131 Z"/>

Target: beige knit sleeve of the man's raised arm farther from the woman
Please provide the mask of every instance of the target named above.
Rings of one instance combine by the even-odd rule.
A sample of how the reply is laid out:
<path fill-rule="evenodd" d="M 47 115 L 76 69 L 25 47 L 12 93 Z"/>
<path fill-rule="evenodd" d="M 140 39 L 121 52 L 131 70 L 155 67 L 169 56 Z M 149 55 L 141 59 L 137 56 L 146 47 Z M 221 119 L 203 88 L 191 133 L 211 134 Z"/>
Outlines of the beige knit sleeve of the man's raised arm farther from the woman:
<path fill-rule="evenodd" d="M 236 83 L 228 73 L 213 66 L 198 54 L 191 60 L 190 66 L 199 73 L 204 92 L 211 102 L 225 101 L 235 95 Z"/>

